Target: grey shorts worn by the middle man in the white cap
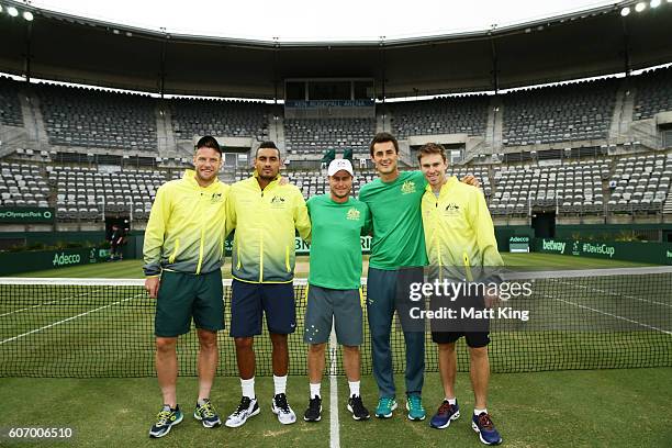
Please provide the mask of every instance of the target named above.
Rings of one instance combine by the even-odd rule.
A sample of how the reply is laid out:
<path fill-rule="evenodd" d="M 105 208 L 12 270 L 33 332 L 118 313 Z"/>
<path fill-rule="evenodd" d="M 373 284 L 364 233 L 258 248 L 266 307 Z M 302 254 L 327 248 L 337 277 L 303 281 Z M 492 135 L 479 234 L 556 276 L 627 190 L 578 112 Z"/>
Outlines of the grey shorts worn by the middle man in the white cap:
<path fill-rule="evenodd" d="M 363 339 L 361 290 L 333 290 L 310 284 L 305 309 L 303 341 L 324 344 L 329 340 L 332 318 L 336 339 L 345 346 L 359 346 Z"/>

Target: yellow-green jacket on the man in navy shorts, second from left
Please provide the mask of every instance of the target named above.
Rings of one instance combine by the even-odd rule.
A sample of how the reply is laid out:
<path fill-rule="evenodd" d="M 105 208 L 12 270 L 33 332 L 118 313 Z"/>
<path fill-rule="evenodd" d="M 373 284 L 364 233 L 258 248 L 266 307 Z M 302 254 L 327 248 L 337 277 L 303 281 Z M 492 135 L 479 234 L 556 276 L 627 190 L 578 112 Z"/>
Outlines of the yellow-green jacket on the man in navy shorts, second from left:
<path fill-rule="evenodd" d="M 311 235 L 305 200 L 295 186 L 280 186 L 279 177 L 264 190 L 257 178 L 255 172 L 231 187 L 226 226 L 236 229 L 232 276 L 250 283 L 289 283 L 294 278 L 294 229 L 303 239 Z"/>

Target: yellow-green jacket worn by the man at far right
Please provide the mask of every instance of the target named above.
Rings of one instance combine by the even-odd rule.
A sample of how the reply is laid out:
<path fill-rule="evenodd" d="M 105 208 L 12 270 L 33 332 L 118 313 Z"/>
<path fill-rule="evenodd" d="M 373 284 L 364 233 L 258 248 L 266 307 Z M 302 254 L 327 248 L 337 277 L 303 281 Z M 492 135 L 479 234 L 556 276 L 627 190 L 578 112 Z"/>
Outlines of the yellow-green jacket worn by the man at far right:
<path fill-rule="evenodd" d="M 491 268 L 504 265 L 485 198 L 478 188 L 450 177 L 437 199 L 427 186 L 422 211 L 430 267 L 474 280 L 483 273 L 490 277 Z"/>

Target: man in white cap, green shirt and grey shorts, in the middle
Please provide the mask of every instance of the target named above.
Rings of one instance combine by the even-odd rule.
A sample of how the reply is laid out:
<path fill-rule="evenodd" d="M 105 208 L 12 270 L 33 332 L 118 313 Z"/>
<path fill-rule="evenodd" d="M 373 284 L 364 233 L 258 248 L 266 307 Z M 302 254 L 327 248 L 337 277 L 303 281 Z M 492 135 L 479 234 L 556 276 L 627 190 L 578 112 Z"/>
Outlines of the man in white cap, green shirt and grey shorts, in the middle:
<path fill-rule="evenodd" d="M 320 385 L 333 321 L 350 389 L 347 407 L 352 418 L 362 421 L 370 414 L 359 394 L 359 346 L 363 338 L 360 236 L 369 233 L 371 217 L 367 204 L 350 197 L 354 176 L 350 160 L 333 160 L 327 175 L 329 194 L 313 197 L 306 204 L 312 242 L 303 340 L 310 345 L 311 394 L 303 419 L 321 419 Z"/>

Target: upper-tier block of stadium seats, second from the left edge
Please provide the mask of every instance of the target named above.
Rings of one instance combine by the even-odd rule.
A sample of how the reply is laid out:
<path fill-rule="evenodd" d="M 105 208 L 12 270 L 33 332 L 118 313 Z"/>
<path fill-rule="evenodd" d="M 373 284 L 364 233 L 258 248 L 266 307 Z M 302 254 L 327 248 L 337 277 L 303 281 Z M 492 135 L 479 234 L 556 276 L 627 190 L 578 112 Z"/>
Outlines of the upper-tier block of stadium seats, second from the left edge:
<path fill-rule="evenodd" d="M 153 99 L 47 85 L 34 89 L 52 145 L 157 150 Z"/>

